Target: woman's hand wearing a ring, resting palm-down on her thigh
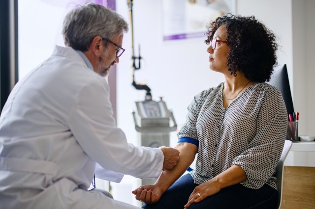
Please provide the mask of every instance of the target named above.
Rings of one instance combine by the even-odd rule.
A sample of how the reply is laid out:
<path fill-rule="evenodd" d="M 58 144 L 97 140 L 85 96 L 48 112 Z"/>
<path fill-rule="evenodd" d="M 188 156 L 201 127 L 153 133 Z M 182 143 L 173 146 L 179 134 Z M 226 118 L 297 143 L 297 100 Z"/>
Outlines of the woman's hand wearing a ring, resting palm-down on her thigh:
<path fill-rule="evenodd" d="M 220 190 L 221 190 L 221 187 L 219 183 L 211 181 L 211 180 L 208 182 L 202 183 L 199 186 L 196 186 L 195 189 L 190 194 L 188 203 L 184 206 L 184 209 L 187 209 L 193 203 L 198 203 L 202 201 L 203 199 L 205 199 L 206 197 L 209 197 L 211 195 L 218 193 Z"/>

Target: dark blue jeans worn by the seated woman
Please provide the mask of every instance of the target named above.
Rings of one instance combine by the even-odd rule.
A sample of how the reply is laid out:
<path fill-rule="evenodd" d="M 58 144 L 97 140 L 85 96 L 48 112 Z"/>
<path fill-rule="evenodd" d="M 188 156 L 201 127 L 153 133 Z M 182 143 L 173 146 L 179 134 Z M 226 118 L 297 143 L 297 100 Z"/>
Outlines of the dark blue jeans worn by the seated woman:
<path fill-rule="evenodd" d="M 144 209 L 184 209 L 195 184 L 190 174 L 179 178 L 162 195 L 158 203 L 143 205 Z M 278 191 L 265 184 L 251 189 L 238 183 L 221 189 L 217 194 L 193 203 L 188 209 L 275 209 Z"/>

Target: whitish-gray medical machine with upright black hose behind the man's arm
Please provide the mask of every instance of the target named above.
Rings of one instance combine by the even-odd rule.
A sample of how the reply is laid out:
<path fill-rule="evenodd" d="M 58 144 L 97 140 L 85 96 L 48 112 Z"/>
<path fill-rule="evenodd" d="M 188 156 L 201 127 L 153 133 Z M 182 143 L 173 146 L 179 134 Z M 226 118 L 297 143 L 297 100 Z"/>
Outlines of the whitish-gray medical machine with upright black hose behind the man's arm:
<path fill-rule="evenodd" d="M 140 126 L 137 122 L 136 113 L 133 111 L 133 119 L 135 129 L 140 133 L 140 145 L 145 147 L 169 146 L 169 133 L 177 129 L 173 113 L 167 109 L 165 102 L 160 98 L 160 101 L 153 101 L 151 89 L 147 85 L 138 84 L 134 78 L 134 72 L 141 68 L 140 46 L 139 56 L 135 56 L 133 47 L 133 21 L 132 21 L 132 0 L 127 0 L 129 15 L 130 15 L 130 29 L 131 29 L 131 52 L 132 52 L 132 85 L 138 90 L 146 90 L 145 101 L 136 102 L 137 116 L 140 118 Z M 136 63 L 136 60 L 138 62 Z M 170 126 L 170 120 L 171 125 Z M 142 179 L 142 185 L 153 184 L 155 179 Z"/>

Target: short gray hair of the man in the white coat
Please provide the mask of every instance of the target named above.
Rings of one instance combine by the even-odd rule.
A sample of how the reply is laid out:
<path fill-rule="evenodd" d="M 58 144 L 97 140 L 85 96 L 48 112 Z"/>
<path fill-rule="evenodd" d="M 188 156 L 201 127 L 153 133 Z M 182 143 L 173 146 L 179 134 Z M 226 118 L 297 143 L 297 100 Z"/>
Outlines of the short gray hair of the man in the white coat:
<path fill-rule="evenodd" d="M 65 46 L 82 52 L 90 48 L 97 35 L 111 39 L 127 31 L 128 24 L 121 15 L 94 3 L 71 10 L 63 20 Z"/>

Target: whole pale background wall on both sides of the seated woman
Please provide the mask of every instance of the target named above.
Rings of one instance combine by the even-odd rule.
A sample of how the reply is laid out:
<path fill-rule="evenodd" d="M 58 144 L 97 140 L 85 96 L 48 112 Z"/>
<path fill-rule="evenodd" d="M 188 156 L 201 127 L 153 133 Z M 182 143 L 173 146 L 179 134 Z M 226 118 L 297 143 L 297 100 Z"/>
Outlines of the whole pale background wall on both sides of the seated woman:
<path fill-rule="evenodd" d="M 168 108 L 173 110 L 180 128 L 185 122 L 187 106 L 193 96 L 218 85 L 223 81 L 223 77 L 208 67 L 204 38 L 162 41 L 161 1 L 134 0 L 133 3 L 134 46 L 138 55 L 138 44 L 141 45 L 145 66 L 135 73 L 135 78 L 138 82 L 149 85 L 154 100 L 163 97 Z M 254 15 L 280 40 L 278 63 L 287 64 L 295 110 L 300 112 L 300 135 L 315 135 L 315 110 L 311 109 L 315 101 L 315 77 L 312 70 L 315 60 L 314 52 L 311 51 L 314 49 L 314 4 L 313 0 L 235 0 L 238 14 Z M 117 11 L 129 21 L 124 0 L 117 0 Z M 135 90 L 131 86 L 130 37 L 130 33 L 125 34 L 123 47 L 126 52 L 117 65 L 118 126 L 126 132 L 129 142 L 138 144 L 139 137 L 134 131 L 131 111 L 135 109 L 135 101 L 144 100 L 145 92 Z M 177 141 L 176 133 L 177 131 L 171 133 L 171 145 Z M 130 183 L 131 181 L 132 177 L 125 177 L 122 184 L 113 187 L 133 189 L 137 184 Z M 124 199 L 126 197 L 122 201 Z M 136 205 L 134 198 L 131 199 Z"/>

